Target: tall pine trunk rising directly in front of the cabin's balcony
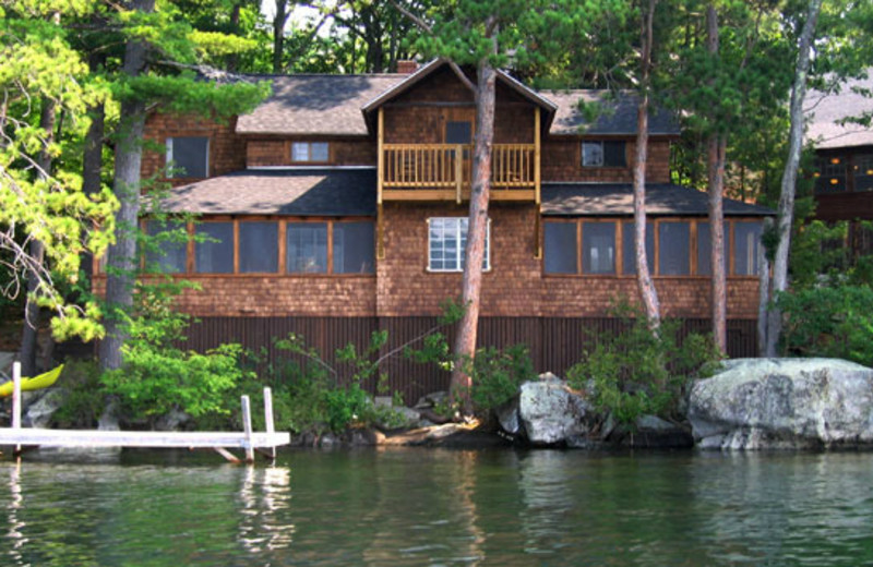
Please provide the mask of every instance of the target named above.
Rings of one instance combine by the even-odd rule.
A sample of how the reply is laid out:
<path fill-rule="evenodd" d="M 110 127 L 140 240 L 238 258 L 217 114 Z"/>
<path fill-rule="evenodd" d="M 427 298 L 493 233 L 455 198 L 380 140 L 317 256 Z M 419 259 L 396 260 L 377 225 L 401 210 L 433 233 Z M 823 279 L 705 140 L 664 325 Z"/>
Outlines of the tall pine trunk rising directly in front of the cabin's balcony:
<path fill-rule="evenodd" d="M 495 46 L 497 48 L 497 46 Z M 479 295 L 482 287 L 485 237 L 488 231 L 488 200 L 491 190 L 491 145 L 494 138 L 494 97 L 497 71 L 486 59 L 477 65 L 476 138 L 473 154 L 473 188 L 467 228 L 462 302 L 464 316 L 458 322 L 455 341 L 455 367 L 452 372 L 452 399 L 462 405 L 465 415 L 473 413 L 473 379 L 465 367 L 476 354 L 476 331 L 479 322 Z M 458 156 L 459 158 L 461 156 Z"/>

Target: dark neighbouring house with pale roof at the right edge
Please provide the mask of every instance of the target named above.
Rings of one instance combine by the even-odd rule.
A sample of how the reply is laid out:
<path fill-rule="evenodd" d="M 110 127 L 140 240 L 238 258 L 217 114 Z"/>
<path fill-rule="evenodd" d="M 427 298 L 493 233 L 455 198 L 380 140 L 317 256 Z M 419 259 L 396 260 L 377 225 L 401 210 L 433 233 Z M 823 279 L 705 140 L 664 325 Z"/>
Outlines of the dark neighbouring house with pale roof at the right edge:
<path fill-rule="evenodd" d="M 838 93 L 811 91 L 804 100 L 805 141 L 815 147 L 815 218 L 849 221 L 852 260 L 873 254 L 873 79 L 846 81 Z M 853 121 L 852 119 L 856 119 Z"/>

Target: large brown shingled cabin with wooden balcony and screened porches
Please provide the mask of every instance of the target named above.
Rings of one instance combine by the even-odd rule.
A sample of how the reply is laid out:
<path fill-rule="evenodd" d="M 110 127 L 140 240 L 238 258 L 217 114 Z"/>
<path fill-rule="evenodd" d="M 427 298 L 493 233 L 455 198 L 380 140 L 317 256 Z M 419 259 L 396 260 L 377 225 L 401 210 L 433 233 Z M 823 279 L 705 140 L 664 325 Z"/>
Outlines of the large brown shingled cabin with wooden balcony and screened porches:
<path fill-rule="evenodd" d="M 459 295 L 475 107 L 447 64 L 411 75 L 272 77 L 274 94 L 230 124 L 154 114 L 146 137 L 187 169 L 168 181 L 171 213 L 200 215 L 219 240 L 158 260 L 200 284 L 180 307 L 201 323 L 196 348 L 268 346 L 300 333 L 330 352 L 372 330 L 400 345 L 430 328 Z M 606 111 L 584 124 L 579 99 Z M 631 159 L 633 97 L 537 93 L 505 74 L 497 91 L 489 244 L 479 342 L 528 345 L 539 371 L 563 373 L 589 333 L 612 330 L 609 307 L 635 301 Z M 706 195 L 670 183 L 670 117 L 650 119 L 649 260 L 663 314 L 708 329 Z M 583 132 L 582 126 L 585 125 Z M 753 354 L 761 219 L 726 200 L 728 327 L 733 355 Z M 447 329 L 451 334 L 451 329 Z M 390 387 L 410 397 L 447 376 L 404 360 Z"/>

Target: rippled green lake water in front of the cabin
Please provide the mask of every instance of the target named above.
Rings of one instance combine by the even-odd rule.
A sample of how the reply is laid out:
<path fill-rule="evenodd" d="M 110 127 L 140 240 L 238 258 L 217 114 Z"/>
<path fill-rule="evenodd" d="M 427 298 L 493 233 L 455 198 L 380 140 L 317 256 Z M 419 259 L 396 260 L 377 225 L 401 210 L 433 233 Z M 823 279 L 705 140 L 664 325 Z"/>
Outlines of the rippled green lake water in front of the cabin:
<path fill-rule="evenodd" d="M 873 454 L 0 461 L 0 566 L 873 565 Z"/>

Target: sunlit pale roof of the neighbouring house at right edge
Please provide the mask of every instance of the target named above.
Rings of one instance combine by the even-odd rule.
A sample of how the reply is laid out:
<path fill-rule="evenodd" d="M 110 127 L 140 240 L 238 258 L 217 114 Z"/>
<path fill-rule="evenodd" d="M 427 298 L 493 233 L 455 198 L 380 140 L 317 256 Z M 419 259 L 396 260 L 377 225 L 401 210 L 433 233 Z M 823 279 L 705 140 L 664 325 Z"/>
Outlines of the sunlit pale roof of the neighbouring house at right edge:
<path fill-rule="evenodd" d="M 869 72 L 873 74 L 873 69 Z M 873 77 L 847 81 L 840 85 L 839 93 L 810 91 L 803 100 L 806 141 L 820 149 L 873 145 L 873 128 L 840 124 L 844 119 L 873 112 L 871 91 Z"/>

